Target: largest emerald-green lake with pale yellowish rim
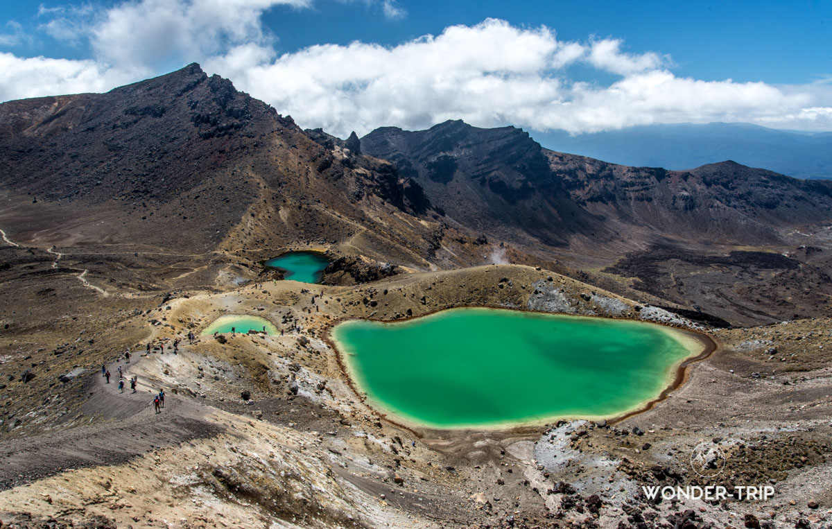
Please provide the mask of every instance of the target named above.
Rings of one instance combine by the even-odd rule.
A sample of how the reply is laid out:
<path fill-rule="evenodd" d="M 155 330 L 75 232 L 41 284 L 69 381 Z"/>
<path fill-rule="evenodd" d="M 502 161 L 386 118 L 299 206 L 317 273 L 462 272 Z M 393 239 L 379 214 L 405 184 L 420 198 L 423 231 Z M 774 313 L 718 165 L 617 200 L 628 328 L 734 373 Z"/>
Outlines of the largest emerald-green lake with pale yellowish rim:
<path fill-rule="evenodd" d="M 352 320 L 332 338 L 377 408 L 434 428 L 616 416 L 701 352 L 659 325 L 501 309 Z"/>

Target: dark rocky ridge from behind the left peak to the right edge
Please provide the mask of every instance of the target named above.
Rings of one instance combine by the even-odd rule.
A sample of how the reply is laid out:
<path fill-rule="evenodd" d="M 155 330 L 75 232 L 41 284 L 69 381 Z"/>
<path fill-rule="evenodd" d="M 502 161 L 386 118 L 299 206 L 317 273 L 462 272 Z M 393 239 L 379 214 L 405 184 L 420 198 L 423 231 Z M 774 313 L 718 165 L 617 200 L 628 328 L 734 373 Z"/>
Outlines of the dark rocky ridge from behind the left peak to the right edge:
<path fill-rule="evenodd" d="M 832 182 L 732 161 L 691 171 L 617 166 L 548 151 L 510 126 L 384 127 L 361 146 L 418 180 L 461 225 L 549 246 L 621 245 L 625 230 L 630 247 L 666 237 L 774 244 L 783 228 L 832 219 Z"/>

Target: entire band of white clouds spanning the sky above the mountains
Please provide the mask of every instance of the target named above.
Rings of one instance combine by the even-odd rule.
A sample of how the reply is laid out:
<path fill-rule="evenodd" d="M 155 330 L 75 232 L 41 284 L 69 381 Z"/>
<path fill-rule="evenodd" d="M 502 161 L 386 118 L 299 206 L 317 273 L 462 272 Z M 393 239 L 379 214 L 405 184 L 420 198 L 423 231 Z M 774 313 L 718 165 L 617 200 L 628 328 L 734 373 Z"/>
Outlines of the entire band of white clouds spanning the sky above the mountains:
<path fill-rule="evenodd" d="M 280 4 L 310 2 L 119 3 L 87 22 L 90 60 L 0 57 L 0 71 L 7 72 L 0 77 L 0 98 L 102 91 L 197 61 L 301 126 L 321 126 L 342 137 L 353 130 L 421 128 L 448 119 L 573 133 L 683 121 L 832 129 L 828 83 L 775 87 L 676 77 L 670 57 L 627 52 L 619 39 L 567 42 L 548 27 L 514 27 L 496 19 L 447 27 L 396 46 L 321 44 L 278 54 L 262 14 Z M 404 16 L 394 0 L 380 5 L 388 17 Z M 587 68 L 604 72 L 604 78 L 612 75 L 613 81 L 572 78 Z"/>

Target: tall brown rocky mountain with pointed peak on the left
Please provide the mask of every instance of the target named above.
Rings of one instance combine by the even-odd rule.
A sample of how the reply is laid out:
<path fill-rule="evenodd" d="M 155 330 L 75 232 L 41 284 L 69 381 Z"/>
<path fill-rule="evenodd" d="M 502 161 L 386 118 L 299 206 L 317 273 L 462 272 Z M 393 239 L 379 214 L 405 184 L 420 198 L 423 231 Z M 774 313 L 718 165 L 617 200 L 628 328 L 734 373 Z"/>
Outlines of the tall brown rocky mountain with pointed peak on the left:
<path fill-rule="evenodd" d="M 385 258 L 418 264 L 435 244 L 435 223 L 409 220 L 431 209 L 418 184 L 319 145 L 196 64 L 106 94 L 4 103 L 0 160 L 13 204 L 0 224 L 23 244 L 268 251 L 366 230 Z"/>

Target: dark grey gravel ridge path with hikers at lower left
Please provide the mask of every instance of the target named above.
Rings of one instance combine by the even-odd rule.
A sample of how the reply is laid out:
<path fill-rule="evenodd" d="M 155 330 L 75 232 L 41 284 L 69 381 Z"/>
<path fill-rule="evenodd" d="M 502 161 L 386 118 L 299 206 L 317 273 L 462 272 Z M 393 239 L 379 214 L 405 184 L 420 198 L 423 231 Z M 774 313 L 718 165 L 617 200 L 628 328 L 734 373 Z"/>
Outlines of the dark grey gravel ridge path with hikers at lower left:
<path fill-rule="evenodd" d="M 165 408 L 155 413 L 155 388 L 140 384 L 136 393 L 131 393 L 126 379 L 124 393 L 120 393 L 117 369 L 111 367 L 114 374 L 109 384 L 101 373 L 87 375 L 90 397 L 81 407 L 84 416 L 103 418 L 103 422 L 0 442 L 0 490 L 71 468 L 116 465 L 144 452 L 225 430 L 206 420 L 210 408 L 177 395 L 166 395 Z"/>

